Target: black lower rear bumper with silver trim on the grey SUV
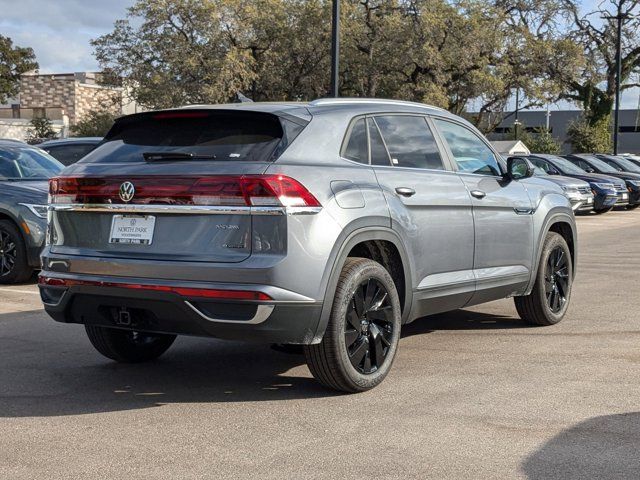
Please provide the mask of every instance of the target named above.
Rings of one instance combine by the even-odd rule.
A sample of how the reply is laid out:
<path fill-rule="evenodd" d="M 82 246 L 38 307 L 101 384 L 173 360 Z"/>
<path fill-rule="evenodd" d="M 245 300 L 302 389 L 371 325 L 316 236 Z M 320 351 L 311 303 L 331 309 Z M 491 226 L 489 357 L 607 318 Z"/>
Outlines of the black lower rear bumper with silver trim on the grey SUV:
<path fill-rule="evenodd" d="M 246 290 L 272 300 L 191 297 L 165 288 L 168 284 L 139 280 L 141 288 L 118 286 L 118 278 L 51 277 L 73 280 L 69 286 L 40 285 L 46 312 L 56 321 L 150 333 L 195 335 L 266 343 L 309 344 L 314 338 L 322 303 L 270 286 L 172 283 L 179 289 Z M 120 280 L 121 281 L 121 280 Z M 86 282 L 82 284 L 82 282 Z M 133 285 L 126 279 L 126 285 Z"/>

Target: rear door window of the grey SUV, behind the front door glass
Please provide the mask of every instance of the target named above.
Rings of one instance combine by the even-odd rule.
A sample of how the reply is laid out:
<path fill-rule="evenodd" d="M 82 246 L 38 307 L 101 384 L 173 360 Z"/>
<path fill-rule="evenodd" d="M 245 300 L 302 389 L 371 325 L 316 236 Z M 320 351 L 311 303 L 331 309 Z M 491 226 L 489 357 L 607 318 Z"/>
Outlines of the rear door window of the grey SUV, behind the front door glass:
<path fill-rule="evenodd" d="M 424 117 L 388 115 L 375 117 L 375 121 L 393 165 L 444 170 L 438 145 Z"/>

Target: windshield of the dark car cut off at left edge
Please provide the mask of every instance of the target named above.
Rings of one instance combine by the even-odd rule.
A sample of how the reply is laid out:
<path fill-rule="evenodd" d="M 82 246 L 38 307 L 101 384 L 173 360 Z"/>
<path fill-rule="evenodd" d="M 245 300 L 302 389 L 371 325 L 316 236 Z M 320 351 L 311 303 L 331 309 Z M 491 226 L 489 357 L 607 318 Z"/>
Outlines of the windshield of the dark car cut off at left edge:
<path fill-rule="evenodd" d="M 31 147 L 0 147 L 0 178 L 48 180 L 64 168 L 55 158 Z"/>

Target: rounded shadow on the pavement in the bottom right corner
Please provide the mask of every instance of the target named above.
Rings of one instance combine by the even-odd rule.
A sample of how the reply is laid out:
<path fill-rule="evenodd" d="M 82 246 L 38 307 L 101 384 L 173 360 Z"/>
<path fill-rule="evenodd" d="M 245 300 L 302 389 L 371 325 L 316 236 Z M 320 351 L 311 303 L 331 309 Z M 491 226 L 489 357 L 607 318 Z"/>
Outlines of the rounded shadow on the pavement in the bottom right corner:
<path fill-rule="evenodd" d="M 640 478 L 640 412 L 595 417 L 563 431 L 530 455 L 530 480 Z"/>

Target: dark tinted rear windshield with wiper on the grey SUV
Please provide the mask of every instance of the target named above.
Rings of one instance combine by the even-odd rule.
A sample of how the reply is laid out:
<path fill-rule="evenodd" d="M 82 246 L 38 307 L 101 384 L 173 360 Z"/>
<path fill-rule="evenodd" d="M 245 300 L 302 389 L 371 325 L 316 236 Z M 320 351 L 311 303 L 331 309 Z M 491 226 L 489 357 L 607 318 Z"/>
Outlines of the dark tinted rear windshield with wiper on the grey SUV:
<path fill-rule="evenodd" d="M 115 124 L 88 162 L 143 162 L 152 154 L 180 161 L 180 154 L 217 161 L 276 159 L 304 128 L 262 112 L 178 110 L 125 117 Z M 173 154 L 173 156 L 171 156 Z M 189 159 L 188 157 L 183 158 Z"/>

